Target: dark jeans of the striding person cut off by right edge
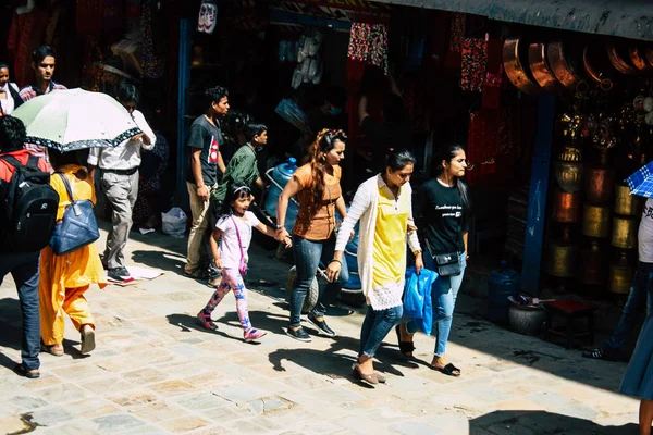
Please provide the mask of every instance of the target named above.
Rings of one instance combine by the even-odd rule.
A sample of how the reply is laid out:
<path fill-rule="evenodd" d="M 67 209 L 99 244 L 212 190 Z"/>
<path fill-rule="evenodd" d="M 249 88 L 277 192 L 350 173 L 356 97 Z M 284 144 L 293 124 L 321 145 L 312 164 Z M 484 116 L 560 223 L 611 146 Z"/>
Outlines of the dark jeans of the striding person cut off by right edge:
<path fill-rule="evenodd" d="M 628 300 L 624 306 L 619 324 L 605 343 L 604 350 L 607 353 L 614 353 L 618 351 L 626 344 L 626 341 L 628 341 L 628 338 L 632 334 L 632 330 L 634 330 L 637 326 L 639 315 L 644 307 L 644 303 L 646 303 L 646 314 L 651 314 L 651 312 L 653 312 L 651 293 L 649 291 L 649 288 L 646 288 L 649 283 L 651 283 L 649 275 L 652 273 L 652 263 L 640 263 L 640 266 L 634 273 L 632 286 L 630 287 L 630 294 L 628 295 Z"/>

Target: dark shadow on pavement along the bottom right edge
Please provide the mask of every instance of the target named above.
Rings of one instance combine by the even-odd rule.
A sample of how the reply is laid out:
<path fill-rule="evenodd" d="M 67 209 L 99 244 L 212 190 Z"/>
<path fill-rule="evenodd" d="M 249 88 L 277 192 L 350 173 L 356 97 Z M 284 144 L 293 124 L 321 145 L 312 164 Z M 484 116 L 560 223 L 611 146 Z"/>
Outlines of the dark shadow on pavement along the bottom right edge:
<path fill-rule="evenodd" d="M 627 435 L 638 434 L 637 424 L 602 426 L 592 421 L 546 411 L 495 411 L 469 422 L 470 435 L 485 434 Z"/>

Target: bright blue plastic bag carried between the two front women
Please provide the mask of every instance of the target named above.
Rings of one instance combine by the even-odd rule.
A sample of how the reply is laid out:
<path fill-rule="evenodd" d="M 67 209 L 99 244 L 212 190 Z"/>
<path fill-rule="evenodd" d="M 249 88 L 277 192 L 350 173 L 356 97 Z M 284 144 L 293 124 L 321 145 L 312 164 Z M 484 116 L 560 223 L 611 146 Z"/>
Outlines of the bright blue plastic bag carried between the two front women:
<path fill-rule="evenodd" d="M 422 269 L 418 275 L 415 266 L 406 270 L 404 287 L 404 315 L 412 318 L 412 322 L 424 334 L 430 335 L 433 328 L 433 302 L 431 286 L 438 279 L 438 273 Z"/>

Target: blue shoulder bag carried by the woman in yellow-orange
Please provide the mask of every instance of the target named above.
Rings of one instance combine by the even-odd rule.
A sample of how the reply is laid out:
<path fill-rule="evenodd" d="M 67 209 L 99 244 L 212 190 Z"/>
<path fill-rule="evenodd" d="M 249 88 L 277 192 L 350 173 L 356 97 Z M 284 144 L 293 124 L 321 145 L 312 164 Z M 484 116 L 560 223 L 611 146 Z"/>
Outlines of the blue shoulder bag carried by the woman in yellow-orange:
<path fill-rule="evenodd" d="M 64 256 L 93 244 L 100 238 L 100 232 L 93 212 L 93 202 L 88 199 L 74 200 L 73 189 L 65 175 L 59 172 L 57 175 L 65 185 L 71 204 L 65 208 L 61 222 L 54 226 L 50 247 L 57 256 Z"/>

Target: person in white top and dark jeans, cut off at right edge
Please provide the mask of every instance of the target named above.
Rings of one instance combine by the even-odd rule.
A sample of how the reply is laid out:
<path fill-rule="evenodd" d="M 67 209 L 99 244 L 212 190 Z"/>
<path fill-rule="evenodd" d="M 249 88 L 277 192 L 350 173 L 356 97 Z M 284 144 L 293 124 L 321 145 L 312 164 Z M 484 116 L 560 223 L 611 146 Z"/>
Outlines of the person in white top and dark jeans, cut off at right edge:
<path fill-rule="evenodd" d="M 646 277 L 653 273 L 653 199 L 649 198 L 644 206 L 642 220 L 638 233 L 639 266 L 634 273 L 628 300 L 624 306 L 621 319 L 612 336 L 603 347 L 588 350 L 582 353 L 586 358 L 595 360 L 615 360 L 617 352 L 630 338 L 632 331 L 638 325 L 640 312 L 646 306 L 646 312 L 651 312 L 652 302 L 648 297 Z"/>

